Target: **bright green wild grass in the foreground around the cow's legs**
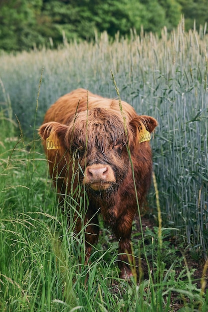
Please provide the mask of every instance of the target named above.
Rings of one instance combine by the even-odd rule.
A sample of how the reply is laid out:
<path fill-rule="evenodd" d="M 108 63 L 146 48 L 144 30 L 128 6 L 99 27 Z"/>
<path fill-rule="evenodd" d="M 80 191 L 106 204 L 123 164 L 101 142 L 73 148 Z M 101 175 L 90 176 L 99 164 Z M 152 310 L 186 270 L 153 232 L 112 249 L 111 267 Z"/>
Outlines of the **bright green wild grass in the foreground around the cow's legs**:
<path fill-rule="evenodd" d="M 99 243 L 86 265 L 84 231 L 75 235 L 75 224 L 67 222 L 68 209 L 60 211 L 37 142 L 26 144 L 21 131 L 20 139 L 14 137 L 14 123 L 4 114 L 0 116 L 0 311 L 207 311 L 205 284 L 197 285 L 186 258 L 177 256 L 167 240 L 171 229 L 162 227 L 161 218 L 154 230 L 139 233 L 145 244 L 138 233 L 133 235 L 139 283 L 136 275 L 130 283 L 119 279 L 118 246 L 112 239 L 106 243 L 109 231 L 103 229 L 102 220 Z M 155 178 L 154 185 L 160 212 Z M 76 209 L 71 196 L 66 197 L 66 207 Z"/>

